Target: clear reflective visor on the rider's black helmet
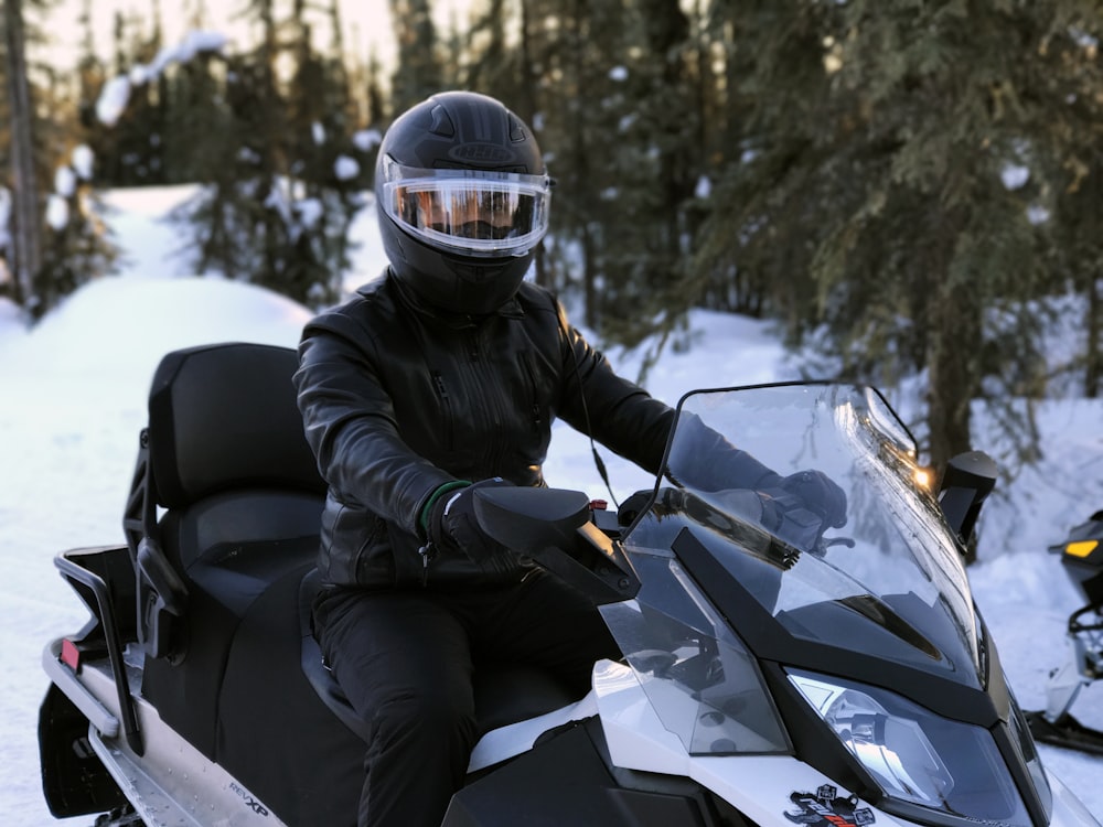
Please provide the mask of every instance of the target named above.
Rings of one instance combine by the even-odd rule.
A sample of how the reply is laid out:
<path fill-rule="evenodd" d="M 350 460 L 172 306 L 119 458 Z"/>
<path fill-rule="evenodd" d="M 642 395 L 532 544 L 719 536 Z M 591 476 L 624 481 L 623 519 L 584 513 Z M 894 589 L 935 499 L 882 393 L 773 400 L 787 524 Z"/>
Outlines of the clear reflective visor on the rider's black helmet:
<path fill-rule="evenodd" d="M 464 256 L 524 256 L 547 233 L 546 175 L 385 165 L 383 210 L 404 230 Z"/>

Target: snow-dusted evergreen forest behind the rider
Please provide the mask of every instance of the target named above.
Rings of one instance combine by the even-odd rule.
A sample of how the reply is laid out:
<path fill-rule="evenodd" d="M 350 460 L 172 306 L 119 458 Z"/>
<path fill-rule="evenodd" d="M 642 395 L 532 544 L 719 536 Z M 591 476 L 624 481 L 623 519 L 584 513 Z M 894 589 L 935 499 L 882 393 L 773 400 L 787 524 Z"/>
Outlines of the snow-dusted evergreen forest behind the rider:
<path fill-rule="evenodd" d="M 234 0 L 233 45 L 202 2 L 172 43 L 159 0 L 107 43 L 73 2 L 2 0 L 0 298 L 28 324 L 111 272 L 109 187 L 202 184 L 197 273 L 339 301 L 382 132 L 468 88 L 533 125 L 534 277 L 608 342 L 690 347 L 695 307 L 777 320 L 810 376 L 911 383 L 935 466 L 974 405 L 1029 462 L 1034 400 L 1100 396 L 1101 0 L 471 0 L 445 24 L 388 0 L 385 60 L 340 0 Z"/>

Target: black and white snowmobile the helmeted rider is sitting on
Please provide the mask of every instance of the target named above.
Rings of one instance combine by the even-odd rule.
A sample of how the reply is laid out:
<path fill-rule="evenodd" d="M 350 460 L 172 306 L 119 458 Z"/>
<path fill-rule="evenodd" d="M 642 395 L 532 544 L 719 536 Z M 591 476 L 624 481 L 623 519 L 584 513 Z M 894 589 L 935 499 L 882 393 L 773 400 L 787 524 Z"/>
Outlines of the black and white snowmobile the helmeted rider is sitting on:
<path fill-rule="evenodd" d="M 355 823 L 368 734 L 310 632 L 325 486 L 295 367 L 245 343 L 159 365 L 126 543 L 56 558 L 90 617 L 42 658 L 55 816 Z M 700 482 L 720 466 L 703 426 L 780 474 L 829 475 L 845 527 Z M 443 827 L 1097 827 L 1042 767 L 971 597 L 993 463 L 963 454 L 934 491 L 918 455 L 871 388 L 705 389 L 678 402 L 654 486 L 617 508 L 481 491 L 482 526 L 588 595 L 623 657 L 581 698 L 481 664 L 482 734 Z"/>

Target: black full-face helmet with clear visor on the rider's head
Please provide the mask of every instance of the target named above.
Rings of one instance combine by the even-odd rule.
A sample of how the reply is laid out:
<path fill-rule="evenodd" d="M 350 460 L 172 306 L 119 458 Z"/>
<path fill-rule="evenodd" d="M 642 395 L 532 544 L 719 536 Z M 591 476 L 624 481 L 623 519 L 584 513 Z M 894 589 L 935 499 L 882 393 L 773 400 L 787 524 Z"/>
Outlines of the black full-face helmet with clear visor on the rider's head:
<path fill-rule="evenodd" d="M 379 146 L 375 204 L 392 270 L 435 307 L 493 312 L 547 233 L 549 184 L 532 130 L 505 106 L 433 95 Z"/>

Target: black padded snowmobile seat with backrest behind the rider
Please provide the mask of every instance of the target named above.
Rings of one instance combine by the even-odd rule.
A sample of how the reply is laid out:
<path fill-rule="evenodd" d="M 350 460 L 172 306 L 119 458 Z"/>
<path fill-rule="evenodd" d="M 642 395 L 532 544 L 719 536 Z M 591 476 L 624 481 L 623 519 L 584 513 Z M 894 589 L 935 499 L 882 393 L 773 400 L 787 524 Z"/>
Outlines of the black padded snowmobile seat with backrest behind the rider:
<path fill-rule="evenodd" d="M 133 549 L 142 690 L 212 759 L 243 617 L 318 552 L 325 484 L 303 436 L 297 366 L 288 347 L 192 347 L 161 361 L 150 390 L 136 474 L 143 538 Z"/>

